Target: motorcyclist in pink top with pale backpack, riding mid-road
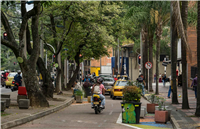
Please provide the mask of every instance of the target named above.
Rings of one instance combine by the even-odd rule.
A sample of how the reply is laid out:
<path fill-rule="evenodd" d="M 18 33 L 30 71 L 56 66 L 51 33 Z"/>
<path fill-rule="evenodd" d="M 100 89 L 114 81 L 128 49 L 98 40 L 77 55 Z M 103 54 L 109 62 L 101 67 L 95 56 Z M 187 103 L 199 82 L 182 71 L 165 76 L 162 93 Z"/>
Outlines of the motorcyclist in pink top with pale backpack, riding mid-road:
<path fill-rule="evenodd" d="M 100 96 L 100 99 L 101 99 L 101 105 L 100 107 L 101 108 L 105 108 L 105 87 L 104 85 L 102 84 L 103 82 L 103 79 L 102 78 L 98 78 L 97 79 L 97 84 L 94 84 L 93 87 L 92 87 L 92 97 L 91 97 L 91 105 L 92 105 L 92 108 L 93 107 L 93 94 L 98 94 Z M 99 87 L 99 88 L 95 88 L 95 87 Z M 99 89 L 99 91 L 96 91 L 96 89 Z"/>

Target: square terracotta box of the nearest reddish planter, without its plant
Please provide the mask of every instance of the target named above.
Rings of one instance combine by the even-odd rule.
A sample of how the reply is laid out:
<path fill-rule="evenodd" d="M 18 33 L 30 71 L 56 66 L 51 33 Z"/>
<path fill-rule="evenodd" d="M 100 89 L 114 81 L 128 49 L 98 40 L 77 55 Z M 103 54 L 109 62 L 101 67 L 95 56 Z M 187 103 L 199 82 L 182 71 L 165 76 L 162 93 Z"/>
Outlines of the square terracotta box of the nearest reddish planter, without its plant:
<path fill-rule="evenodd" d="M 167 123 L 168 121 L 168 111 L 155 111 L 155 122 L 156 123 Z"/>

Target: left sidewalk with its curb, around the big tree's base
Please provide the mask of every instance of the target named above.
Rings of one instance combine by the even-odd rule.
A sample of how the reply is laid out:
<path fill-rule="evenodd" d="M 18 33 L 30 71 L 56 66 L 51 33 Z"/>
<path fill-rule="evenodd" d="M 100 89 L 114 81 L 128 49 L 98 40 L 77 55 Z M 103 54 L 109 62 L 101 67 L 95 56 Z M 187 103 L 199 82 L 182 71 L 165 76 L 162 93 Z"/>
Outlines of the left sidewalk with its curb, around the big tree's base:
<path fill-rule="evenodd" d="M 48 100 L 50 105 L 49 108 L 33 108 L 30 106 L 29 109 L 19 109 L 17 104 L 18 92 L 16 91 L 6 94 L 10 94 L 11 103 L 9 108 L 6 108 L 4 112 L 0 113 L 0 129 L 24 124 L 31 120 L 58 111 L 74 102 L 74 98 L 71 98 L 72 92 L 70 90 L 63 91 L 62 95 L 54 94 L 54 98 L 52 100 Z"/>

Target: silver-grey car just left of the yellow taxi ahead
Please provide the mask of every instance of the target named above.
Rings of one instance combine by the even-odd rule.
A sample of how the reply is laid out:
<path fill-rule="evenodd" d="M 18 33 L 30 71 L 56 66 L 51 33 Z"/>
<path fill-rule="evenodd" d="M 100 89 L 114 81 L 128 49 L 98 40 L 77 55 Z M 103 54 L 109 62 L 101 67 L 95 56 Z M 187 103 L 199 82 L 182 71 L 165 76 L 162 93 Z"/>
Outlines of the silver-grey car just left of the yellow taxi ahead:
<path fill-rule="evenodd" d="M 106 89 L 106 94 L 110 94 L 110 90 L 112 88 L 112 86 L 114 85 L 115 83 L 115 79 L 114 78 L 111 78 L 111 77 L 104 77 L 103 78 L 103 84 L 104 84 L 104 87 Z"/>

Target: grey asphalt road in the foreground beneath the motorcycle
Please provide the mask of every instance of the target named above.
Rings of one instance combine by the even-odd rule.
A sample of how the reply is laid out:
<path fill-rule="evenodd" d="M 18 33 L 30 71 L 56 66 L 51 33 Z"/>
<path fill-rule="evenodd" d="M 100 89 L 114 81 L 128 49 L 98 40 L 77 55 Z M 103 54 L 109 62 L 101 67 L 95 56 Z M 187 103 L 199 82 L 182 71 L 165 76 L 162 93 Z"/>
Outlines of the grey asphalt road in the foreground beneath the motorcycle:
<path fill-rule="evenodd" d="M 95 114 L 91 104 L 71 105 L 13 129 L 130 129 L 116 123 L 121 101 L 106 96 L 106 108 L 100 114 Z"/>

